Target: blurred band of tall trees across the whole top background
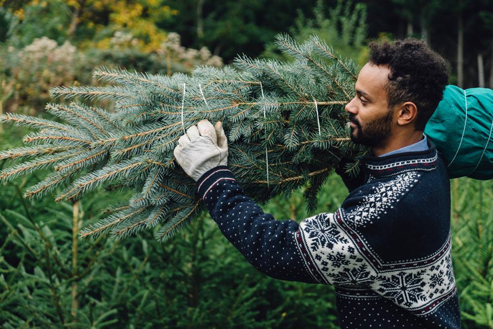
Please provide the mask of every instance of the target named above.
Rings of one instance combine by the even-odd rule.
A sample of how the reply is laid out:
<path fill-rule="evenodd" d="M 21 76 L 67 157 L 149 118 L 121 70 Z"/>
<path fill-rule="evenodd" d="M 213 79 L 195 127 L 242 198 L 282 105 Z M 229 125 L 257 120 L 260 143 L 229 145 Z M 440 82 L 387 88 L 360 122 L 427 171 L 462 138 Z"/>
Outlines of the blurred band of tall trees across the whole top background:
<path fill-rule="evenodd" d="M 320 22 L 317 12 L 325 12 L 326 18 L 330 19 L 328 13 L 341 6 L 339 2 L 0 0 L 0 42 L 8 40 L 9 45 L 24 47 L 34 38 L 46 36 L 59 45 L 69 39 L 79 48 L 108 49 L 114 45 L 118 32 L 126 37 L 121 46 L 156 52 L 167 33 L 175 32 L 180 35 L 183 46 L 195 49 L 207 46 L 213 55 L 229 63 L 237 54 L 259 56 L 269 50 L 274 36 L 282 32 L 296 30 L 301 36 L 310 31 L 325 34 L 330 38 L 329 43 L 338 43 L 339 39 L 334 39 L 333 33 L 331 35 L 326 27 L 317 25 Z M 361 4 L 366 5 L 366 38 L 423 38 L 451 62 L 451 83 L 459 83 L 464 88 L 478 86 L 480 56 L 485 80 L 491 80 L 490 86 L 493 83 L 493 0 L 342 2 L 351 8 L 351 12 L 357 12 L 356 8 Z M 310 22 L 316 24 L 310 25 Z M 303 31 L 300 24 L 304 25 Z M 342 21 L 333 24 L 339 33 L 343 30 L 342 24 Z M 340 50 L 338 46 L 336 50 Z M 269 51 L 264 55 L 269 54 L 274 55 Z"/>

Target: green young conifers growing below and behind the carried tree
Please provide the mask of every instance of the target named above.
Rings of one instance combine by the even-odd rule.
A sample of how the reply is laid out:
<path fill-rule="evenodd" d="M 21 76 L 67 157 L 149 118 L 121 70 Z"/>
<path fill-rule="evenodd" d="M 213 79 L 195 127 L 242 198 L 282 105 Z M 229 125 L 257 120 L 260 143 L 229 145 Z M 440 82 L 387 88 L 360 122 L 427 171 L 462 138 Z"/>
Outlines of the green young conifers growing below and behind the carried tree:
<path fill-rule="evenodd" d="M 26 133 L 7 127 L 0 150 L 20 146 Z M 338 328 L 333 287 L 266 277 L 232 247 L 209 215 L 164 244 L 150 231 L 123 241 L 74 239 L 73 205 L 54 203 L 53 196 L 21 198 L 19 189 L 39 179 L 33 174 L 0 185 L 4 329 Z M 301 221 L 310 216 L 302 190 L 289 199 L 272 199 L 264 211 Z M 456 179 L 451 190 L 462 326 L 493 328 L 493 181 Z M 314 213 L 335 211 L 347 194 L 340 178 L 330 176 Z M 122 197 L 128 196 L 89 193 L 75 214 L 78 229 L 97 221 L 101 209 Z"/>

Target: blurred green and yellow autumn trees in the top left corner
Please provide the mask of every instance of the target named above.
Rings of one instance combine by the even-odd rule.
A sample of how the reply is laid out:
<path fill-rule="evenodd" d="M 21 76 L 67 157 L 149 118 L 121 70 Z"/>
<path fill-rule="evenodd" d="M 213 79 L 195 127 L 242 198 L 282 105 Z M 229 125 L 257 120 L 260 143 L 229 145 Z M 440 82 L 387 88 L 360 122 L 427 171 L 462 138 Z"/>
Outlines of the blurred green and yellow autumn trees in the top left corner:
<path fill-rule="evenodd" d="M 166 0 L 31 0 L 4 1 L 13 13 L 10 38 L 26 46 L 34 38 L 67 39 L 79 45 L 108 48 L 115 32 L 132 37 L 128 45 L 157 50 L 166 33 L 156 24 L 178 12 Z"/>

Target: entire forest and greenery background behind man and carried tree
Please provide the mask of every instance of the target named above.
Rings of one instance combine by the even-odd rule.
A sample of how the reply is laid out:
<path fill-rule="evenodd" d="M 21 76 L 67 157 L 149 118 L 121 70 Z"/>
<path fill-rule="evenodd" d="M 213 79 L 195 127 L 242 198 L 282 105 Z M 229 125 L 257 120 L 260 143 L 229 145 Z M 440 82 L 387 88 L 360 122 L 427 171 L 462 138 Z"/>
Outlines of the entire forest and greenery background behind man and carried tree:
<path fill-rule="evenodd" d="M 53 119 L 54 86 L 99 85 L 99 66 L 190 73 L 237 54 L 290 60 L 274 37 L 317 34 L 364 64 L 372 38 L 423 38 L 451 62 L 451 84 L 493 88 L 492 0 L 3 0 L 0 113 Z M 101 106 L 102 104 L 100 104 Z M 111 104 L 103 104 L 111 109 Z M 0 124 L 0 150 L 29 129 Z M 0 163 L 0 169 L 4 167 Z M 39 174 L 0 183 L 0 326 L 10 328 L 338 328 L 334 290 L 270 279 L 202 216 L 165 243 L 153 232 L 80 240 L 124 194 L 76 204 L 24 200 Z M 302 220 L 303 187 L 264 205 Z M 493 181 L 451 181 L 453 260 L 463 328 L 493 328 Z M 55 192 L 52 193 L 56 194 Z M 317 212 L 348 192 L 332 175 Z"/>

